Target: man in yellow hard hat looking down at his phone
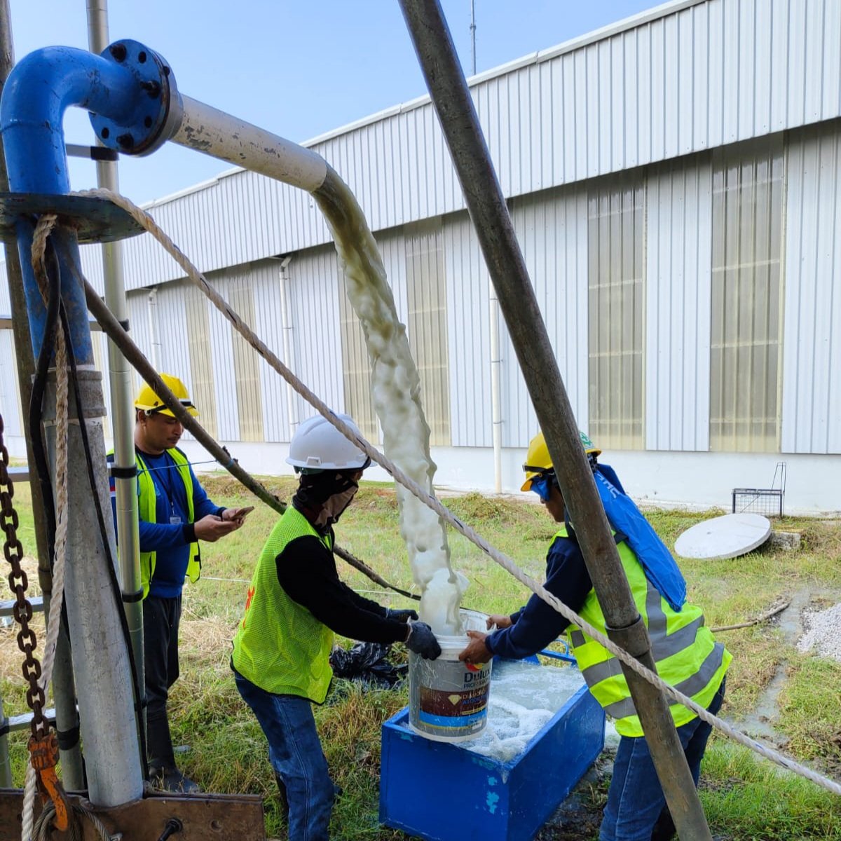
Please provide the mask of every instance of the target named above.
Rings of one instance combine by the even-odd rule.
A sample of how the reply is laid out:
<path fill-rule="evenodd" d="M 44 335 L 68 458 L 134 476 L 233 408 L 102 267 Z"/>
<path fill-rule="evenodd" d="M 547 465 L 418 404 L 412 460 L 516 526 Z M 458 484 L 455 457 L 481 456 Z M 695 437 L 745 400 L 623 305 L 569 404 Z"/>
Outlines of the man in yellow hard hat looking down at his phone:
<path fill-rule="evenodd" d="M 161 379 L 190 413 L 198 415 L 187 386 L 172 374 Z M 185 577 L 201 569 L 199 541 L 215 542 L 235 532 L 251 509 L 225 508 L 209 499 L 187 455 L 177 447 L 184 431 L 148 383 L 135 399 L 135 457 L 143 598 L 148 770 L 167 791 L 198 791 L 178 770 L 172 750 L 167 698 L 178 679 L 178 625 Z M 114 454 L 108 454 L 113 462 Z M 114 480 L 111 500 L 116 519 Z"/>

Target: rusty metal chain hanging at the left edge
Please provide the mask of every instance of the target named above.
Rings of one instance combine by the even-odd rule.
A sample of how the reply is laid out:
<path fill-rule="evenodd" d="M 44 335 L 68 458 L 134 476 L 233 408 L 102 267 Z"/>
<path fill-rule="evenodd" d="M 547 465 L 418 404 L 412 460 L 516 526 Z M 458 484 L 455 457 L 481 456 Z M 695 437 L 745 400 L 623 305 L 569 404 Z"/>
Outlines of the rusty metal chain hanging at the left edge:
<path fill-rule="evenodd" d="M 3 443 L 3 415 L 0 415 L 0 528 L 6 535 L 3 542 L 3 555 L 12 568 L 8 574 L 8 585 L 15 596 L 14 618 L 19 622 L 18 646 L 26 655 L 24 660 L 24 678 L 29 681 L 26 701 L 32 709 L 31 730 L 34 738 L 40 738 L 47 733 L 48 722 L 44 717 L 44 690 L 38 684 L 41 676 L 40 661 L 33 652 L 38 647 L 38 638 L 29 627 L 32 619 L 32 605 L 26 598 L 26 588 L 29 580 L 20 562 L 24 559 L 24 547 L 18 540 L 18 512 L 14 510 L 14 484 L 8 474 L 8 450 Z"/>

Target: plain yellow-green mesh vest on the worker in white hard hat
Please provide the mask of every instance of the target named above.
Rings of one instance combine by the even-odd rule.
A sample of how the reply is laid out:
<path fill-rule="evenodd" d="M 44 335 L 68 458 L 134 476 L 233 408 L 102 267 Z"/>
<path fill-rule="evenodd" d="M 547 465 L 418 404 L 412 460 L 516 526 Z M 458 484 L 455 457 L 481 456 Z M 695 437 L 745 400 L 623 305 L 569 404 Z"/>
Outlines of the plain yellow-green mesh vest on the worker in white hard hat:
<path fill-rule="evenodd" d="M 278 581 L 275 558 L 289 543 L 311 535 L 332 551 L 331 537 L 320 535 L 289 505 L 276 523 L 257 561 L 246 610 L 234 637 L 234 668 L 252 684 L 274 695 L 297 695 L 324 702 L 333 669 L 333 632 L 287 595 Z M 283 563 L 283 558 L 279 563 Z"/>

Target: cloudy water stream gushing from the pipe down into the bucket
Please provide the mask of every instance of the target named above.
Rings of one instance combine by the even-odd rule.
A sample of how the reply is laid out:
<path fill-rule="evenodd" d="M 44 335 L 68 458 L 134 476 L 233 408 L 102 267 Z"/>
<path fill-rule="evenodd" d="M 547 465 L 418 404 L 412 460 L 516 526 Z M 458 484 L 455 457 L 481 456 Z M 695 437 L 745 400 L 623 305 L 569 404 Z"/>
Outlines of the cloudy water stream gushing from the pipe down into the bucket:
<path fill-rule="evenodd" d="M 394 308 L 377 243 L 356 199 L 335 172 L 329 170 L 315 198 L 331 227 L 347 280 L 347 295 L 362 322 L 383 449 L 411 479 L 434 495 L 436 465 L 429 452 L 421 380 L 405 326 Z M 421 619 L 437 634 L 461 634 L 458 606 L 468 580 L 452 569 L 443 521 L 402 485 L 397 485 L 397 501 L 400 534 L 408 550 L 412 576 L 421 590 Z"/>

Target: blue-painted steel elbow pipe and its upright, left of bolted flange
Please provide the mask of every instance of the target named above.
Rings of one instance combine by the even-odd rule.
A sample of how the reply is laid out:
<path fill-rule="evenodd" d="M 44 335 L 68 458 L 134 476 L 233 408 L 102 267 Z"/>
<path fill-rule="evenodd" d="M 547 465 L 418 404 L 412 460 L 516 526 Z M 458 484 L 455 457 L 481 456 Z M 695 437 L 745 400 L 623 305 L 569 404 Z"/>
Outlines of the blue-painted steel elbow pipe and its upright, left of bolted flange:
<path fill-rule="evenodd" d="M 9 188 L 13 193 L 70 192 L 62 125 L 66 108 L 77 105 L 106 115 L 116 124 L 131 125 L 142 124 L 152 108 L 165 110 L 167 103 L 168 98 L 162 97 L 160 102 L 151 101 L 150 93 L 141 87 L 130 66 L 94 56 L 87 50 L 46 47 L 30 53 L 9 74 L 0 101 L 0 132 Z M 29 331 L 37 358 L 44 337 L 46 310 L 31 267 L 33 231 L 31 221 L 19 221 L 18 249 Z M 79 364 L 90 364 L 93 346 L 85 293 L 73 272 L 79 266 L 77 237 L 69 229 L 56 231 L 56 235 L 66 245 L 59 253 L 71 254 L 76 263 L 75 267 L 61 265 L 61 297 L 70 323 L 73 349 Z"/>

